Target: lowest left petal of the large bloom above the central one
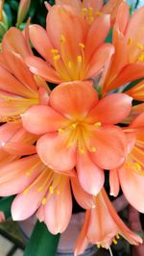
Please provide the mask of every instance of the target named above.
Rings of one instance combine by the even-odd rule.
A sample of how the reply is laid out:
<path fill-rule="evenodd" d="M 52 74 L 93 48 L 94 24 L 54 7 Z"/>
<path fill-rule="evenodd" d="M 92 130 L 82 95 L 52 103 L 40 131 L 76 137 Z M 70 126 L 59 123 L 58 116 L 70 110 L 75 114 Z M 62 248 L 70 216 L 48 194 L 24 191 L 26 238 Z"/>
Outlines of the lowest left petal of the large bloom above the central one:
<path fill-rule="evenodd" d="M 60 83 L 60 77 L 53 67 L 46 64 L 42 59 L 36 56 L 26 58 L 26 63 L 29 65 L 32 73 L 43 77 L 45 80 Z"/>

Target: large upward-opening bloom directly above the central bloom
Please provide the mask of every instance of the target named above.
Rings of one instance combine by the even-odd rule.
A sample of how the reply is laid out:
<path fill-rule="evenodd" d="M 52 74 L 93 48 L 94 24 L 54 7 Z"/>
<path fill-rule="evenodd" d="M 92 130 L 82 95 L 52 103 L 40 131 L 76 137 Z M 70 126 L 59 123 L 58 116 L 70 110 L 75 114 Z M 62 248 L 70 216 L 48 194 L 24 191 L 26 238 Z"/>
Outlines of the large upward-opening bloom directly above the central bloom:
<path fill-rule="evenodd" d="M 46 31 L 32 25 L 29 32 L 32 44 L 46 62 L 34 56 L 26 62 L 32 72 L 57 84 L 95 77 L 114 52 L 114 47 L 104 42 L 109 28 L 108 14 L 100 15 L 87 28 L 72 8 L 55 5 L 47 15 Z"/>

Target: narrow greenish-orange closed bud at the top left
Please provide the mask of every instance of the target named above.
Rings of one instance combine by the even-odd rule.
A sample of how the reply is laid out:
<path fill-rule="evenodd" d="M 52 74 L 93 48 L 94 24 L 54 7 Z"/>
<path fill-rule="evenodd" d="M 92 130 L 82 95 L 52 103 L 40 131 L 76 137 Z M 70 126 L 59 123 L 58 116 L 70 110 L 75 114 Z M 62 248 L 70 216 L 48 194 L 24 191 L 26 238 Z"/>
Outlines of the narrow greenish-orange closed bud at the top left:
<path fill-rule="evenodd" d="M 30 8 L 31 0 L 20 0 L 18 13 L 17 13 L 17 22 L 16 25 L 19 26 L 24 18 L 26 17 L 29 8 Z"/>

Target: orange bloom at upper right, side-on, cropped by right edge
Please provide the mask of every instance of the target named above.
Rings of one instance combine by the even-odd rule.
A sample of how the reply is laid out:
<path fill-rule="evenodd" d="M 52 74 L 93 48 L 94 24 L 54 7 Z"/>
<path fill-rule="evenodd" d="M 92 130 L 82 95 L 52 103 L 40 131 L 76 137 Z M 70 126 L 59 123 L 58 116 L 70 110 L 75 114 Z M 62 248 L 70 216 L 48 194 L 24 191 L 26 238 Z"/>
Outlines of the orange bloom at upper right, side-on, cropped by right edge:
<path fill-rule="evenodd" d="M 144 76 L 144 7 L 129 13 L 123 2 L 113 28 L 115 52 L 101 81 L 104 95 Z"/>

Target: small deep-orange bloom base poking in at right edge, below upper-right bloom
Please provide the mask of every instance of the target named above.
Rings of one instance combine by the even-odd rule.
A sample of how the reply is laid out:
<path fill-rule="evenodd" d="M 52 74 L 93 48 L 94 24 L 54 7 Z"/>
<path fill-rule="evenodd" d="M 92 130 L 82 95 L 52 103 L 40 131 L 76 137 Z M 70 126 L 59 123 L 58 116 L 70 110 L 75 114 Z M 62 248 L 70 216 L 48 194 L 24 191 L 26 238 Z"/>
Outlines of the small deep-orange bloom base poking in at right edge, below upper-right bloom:
<path fill-rule="evenodd" d="M 144 101 L 144 80 L 133 86 L 132 89 L 127 90 L 125 93 L 132 96 L 135 100 Z"/>

